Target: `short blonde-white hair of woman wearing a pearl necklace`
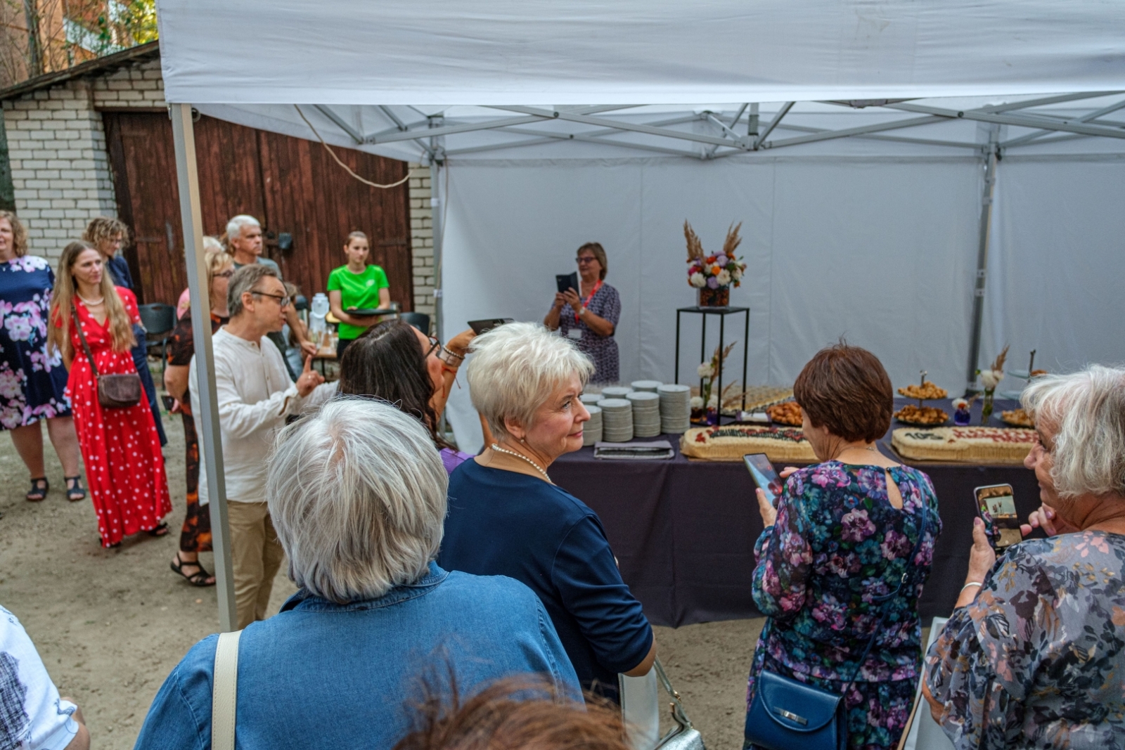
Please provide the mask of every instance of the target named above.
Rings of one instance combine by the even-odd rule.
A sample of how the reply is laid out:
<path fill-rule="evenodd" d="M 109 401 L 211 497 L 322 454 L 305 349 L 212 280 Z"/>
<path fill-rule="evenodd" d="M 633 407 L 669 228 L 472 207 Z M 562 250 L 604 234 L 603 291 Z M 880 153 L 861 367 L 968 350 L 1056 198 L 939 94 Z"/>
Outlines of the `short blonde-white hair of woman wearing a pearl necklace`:
<path fill-rule="evenodd" d="M 569 338 L 538 323 L 510 323 L 472 340 L 466 368 L 472 406 L 497 437 L 508 435 L 505 417 L 524 428 L 536 410 L 574 376 L 583 385 L 594 363 Z"/>

